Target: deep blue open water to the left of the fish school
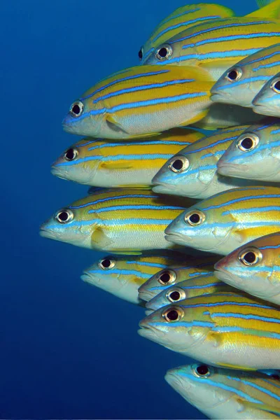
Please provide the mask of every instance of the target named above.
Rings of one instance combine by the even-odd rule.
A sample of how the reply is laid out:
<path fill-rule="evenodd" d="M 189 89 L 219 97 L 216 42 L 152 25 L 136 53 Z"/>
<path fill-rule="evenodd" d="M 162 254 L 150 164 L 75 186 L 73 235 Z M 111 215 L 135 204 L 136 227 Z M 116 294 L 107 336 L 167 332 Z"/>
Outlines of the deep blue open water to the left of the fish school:
<path fill-rule="evenodd" d="M 188 359 L 137 335 L 143 309 L 80 281 L 97 253 L 38 235 L 87 191 L 50 174 L 76 141 L 61 127 L 69 105 L 138 64 L 153 26 L 183 4 L 1 1 L 1 418 L 205 418 L 163 379 Z"/>

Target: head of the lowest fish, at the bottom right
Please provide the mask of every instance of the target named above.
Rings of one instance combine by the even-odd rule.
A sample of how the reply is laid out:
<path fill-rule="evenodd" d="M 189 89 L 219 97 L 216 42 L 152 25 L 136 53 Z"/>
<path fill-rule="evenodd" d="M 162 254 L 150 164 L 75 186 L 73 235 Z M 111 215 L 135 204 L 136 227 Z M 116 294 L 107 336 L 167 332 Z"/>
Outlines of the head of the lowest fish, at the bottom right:
<path fill-rule="evenodd" d="M 223 405 L 235 398 L 232 391 L 241 387 L 239 376 L 242 373 L 238 371 L 195 363 L 168 370 L 165 380 L 191 405 L 216 419 L 211 413 L 217 410 L 221 414 Z"/>

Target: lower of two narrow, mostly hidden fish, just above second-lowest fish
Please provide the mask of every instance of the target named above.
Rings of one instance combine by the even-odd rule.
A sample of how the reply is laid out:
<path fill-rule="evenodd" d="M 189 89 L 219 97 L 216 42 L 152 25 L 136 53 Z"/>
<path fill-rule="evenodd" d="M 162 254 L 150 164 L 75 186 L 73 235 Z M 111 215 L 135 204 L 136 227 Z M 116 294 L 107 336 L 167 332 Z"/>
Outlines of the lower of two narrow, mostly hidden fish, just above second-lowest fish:
<path fill-rule="evenodd" d="M 180 281 L 175 286 L 170 286 L 167 290 L 162 290 L 158 295 L 146 303 L 146 308 L 153 311 L 167 306 L 167 304 L 178 304 L 181 300 L 190 299 L 190 297 L 210 295 L 215 292 L 236 291 L 230 288 L 227 283 L 218 280 L 213 272 L 195 276 L 184 281 Z"/>

